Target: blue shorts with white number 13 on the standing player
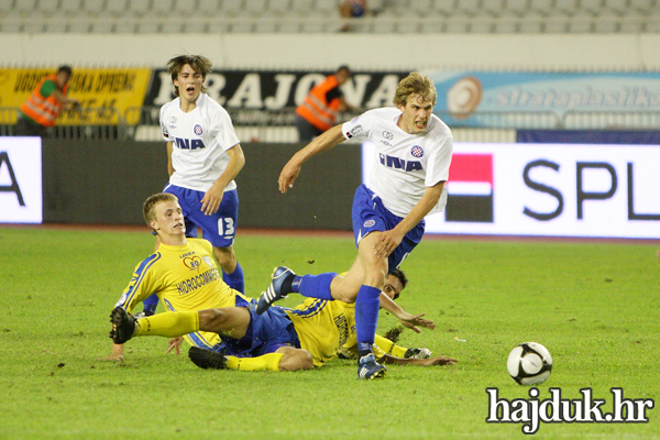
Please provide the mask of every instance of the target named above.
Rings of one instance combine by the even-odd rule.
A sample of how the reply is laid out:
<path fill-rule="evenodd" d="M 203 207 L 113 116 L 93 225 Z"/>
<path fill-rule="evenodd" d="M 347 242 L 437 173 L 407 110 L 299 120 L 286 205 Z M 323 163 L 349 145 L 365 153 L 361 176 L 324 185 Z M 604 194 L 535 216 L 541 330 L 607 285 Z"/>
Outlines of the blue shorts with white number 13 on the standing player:
<path fill-rule="evenodd" d="M 215 248 L 233 245 L 239 221 L 239 191 L 224 191 L 218 212 L 206 216 L 201 211 L 201 199 L 205 191 L 183 188 L 168 184 L 163 193 L 174 194 L 179 199 L 186 221 L 186 237 L 196 238 L 197 229 L 201 229 L 204 239 Z"/>

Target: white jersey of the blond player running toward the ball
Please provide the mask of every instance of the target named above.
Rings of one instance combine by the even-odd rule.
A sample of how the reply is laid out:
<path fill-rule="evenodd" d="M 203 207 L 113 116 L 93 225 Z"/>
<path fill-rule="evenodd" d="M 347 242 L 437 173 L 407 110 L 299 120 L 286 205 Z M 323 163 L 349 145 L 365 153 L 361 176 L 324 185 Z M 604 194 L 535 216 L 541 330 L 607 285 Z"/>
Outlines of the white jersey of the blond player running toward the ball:
<path fill-rule="evenodd" d="M 424 196 L 426 187 L 449 178 L 453 151 L 451 130 L 435 114 L 420 134 L 409 134 L 398 125 L 402 112 L 395 107 L 370 110 L 342 125 L 345 139 L 375 144 L 375 161 L 369 187 L 381 197 L 387 210 L 406 217 Z M 429 212 L 447 205 L 447 189 Z"/>

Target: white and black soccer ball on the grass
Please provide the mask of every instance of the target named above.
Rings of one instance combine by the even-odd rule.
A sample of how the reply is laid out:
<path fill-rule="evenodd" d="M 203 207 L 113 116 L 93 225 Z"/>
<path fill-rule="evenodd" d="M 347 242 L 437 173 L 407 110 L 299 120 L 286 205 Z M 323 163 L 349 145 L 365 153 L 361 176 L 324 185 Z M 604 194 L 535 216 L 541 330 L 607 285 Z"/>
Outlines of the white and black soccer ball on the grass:
<path fill-rule="evenodd" d="M 542 384 L 550 377 L 552 356 L 540 343 L 525 342 L 512 350 L 506 369 L 520 385 Z"/>

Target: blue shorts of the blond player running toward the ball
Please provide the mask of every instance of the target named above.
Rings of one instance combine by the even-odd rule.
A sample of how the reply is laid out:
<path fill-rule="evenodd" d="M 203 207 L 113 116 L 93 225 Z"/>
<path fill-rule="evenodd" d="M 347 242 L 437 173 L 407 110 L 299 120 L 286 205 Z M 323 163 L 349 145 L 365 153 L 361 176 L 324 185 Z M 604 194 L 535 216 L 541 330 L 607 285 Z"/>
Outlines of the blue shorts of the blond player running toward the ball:
<path fill-rule="evenodd" d="M 365 185 L 360 185 L 353 198 L 353 234 L 355 246 L 360 240 L 373 231 L 389 231 L 402 222 L 403 218 L 393 215 L 384 206 L 378 196 Z M 388 272 L 397 268 L 421 241 L 426 222 L 424 219 L 404 237 L 400 244 L 387 258 Z"/>

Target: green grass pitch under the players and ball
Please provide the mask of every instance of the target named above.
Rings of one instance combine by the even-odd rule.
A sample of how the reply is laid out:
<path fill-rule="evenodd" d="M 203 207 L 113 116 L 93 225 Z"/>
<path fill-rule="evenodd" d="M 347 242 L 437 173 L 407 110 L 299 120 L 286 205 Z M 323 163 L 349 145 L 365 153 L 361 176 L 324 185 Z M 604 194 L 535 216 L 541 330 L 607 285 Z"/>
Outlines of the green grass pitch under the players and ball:
<path fill-rule="evenodd" d="M 110 353 L 108 316 L 135 264 L 153 249 L 146 231 L 0 229 L 0 439 L 509 439 L 521 424 L 486 424 L 487 387 L 528 398 L 506 372 L 520 342 L 554 359 L 540 398 L 660 398 L 660 268 L 652 243 L 435 240 L 402 268 L 399 304 L 425 311 L 435 331 L 402 344 L 458 359 L 454 366 L 391 366 L 360 382 L 351 361 L 293 373 L 204 371 L 165 354 L 164 338 Z M 346 237 L 239 232 L 250 296 L 274 266 L 344 271 Z M 292 295 L 284 305 L 298 302 Z M 381 332 L 395 326 L 381 314 Z M 187 349 L 186 349 L 187 350 Z M 647 424 L 541 424 L 546 439 L 660 439 L 660 409 Z"/>

